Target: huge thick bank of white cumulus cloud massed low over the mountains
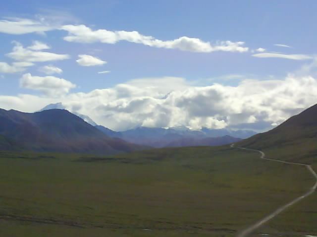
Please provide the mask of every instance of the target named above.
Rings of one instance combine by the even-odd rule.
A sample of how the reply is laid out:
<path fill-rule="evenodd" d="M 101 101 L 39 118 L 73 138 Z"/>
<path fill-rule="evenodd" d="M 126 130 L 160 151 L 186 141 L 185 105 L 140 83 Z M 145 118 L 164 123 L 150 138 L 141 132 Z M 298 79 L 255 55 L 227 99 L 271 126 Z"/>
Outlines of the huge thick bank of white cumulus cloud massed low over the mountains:
<path fill-rule="evenodd" d="M 317 78 L 309 74 L 243 79 L 236 86 L 195 86 L 173 77 L 134 79 L 111 88 L 70 94 L 65 93 L 75 85 L 69 81 L 25 74 L 21 86 L 47 94 L 47 104 L 62 102 L 68 110 L 89 115 L 113 130 L 178 125 L 264 130 L 315 104 L 317 94 Z M 56 98 L 56 94 L 64 96 Z M 38 105 L 34 110 L 45 106 L 43 97 L 31 98 L 32 108 Z M 0 107 L 10 106 L 24 110 L 26 105 L 21 96 L 0 96 Z"/>

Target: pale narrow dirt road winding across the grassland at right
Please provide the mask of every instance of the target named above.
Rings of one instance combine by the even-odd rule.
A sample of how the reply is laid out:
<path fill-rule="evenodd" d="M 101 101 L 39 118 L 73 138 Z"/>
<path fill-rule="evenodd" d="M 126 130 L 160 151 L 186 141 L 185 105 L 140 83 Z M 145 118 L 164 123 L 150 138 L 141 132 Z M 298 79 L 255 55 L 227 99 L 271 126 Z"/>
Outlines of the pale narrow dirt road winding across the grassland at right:
<path fill-rule="evenodd" d="M 296 163 L 296 162 L 288 162 L 288 161 L 283 161 L 283 160 L 279 160 L 279 159 L 271 159 L 271 158 L 265 158 L 265 154 L 262 151 L 259 150 L 255 150 L 255 149 L 249 149 L 249 148 L 244 148 L 244 147 L 235 147 L 234 143 L 230 145 L 230 147 L 232 148 L 237 148 L 237 149 L 242 149 L 242 150 L 249 150 L 249 151 L 255 151 L 255 152 L 259 152 L 261 154 L 261 159 L 266 159 L 266 160 L 271 160 L 271 161 L 276 161 L 276 162 L 281 162 L 281 163 L 285 163 L 285 164 L 294 164 L 294 165 L 302 165 L 305 166 L 309 172 L 314 176 L 314 178 L 316 179 L 316 182 L 314 184 L 314 186 L 312 186 L 309 191 L 307 191 L 305 194 L 303 194 L 300 197 L 295 198 L 294 200 L 286 203 L 285 205 L 277 208 L 275 211 L 273 211 L 272 213 L 270 213 L 269 215 L 265 216 L 264 218 L 260 219 L 259 221 L 257 221 L 255 224 L 249 226 L 248 228 L 246 228 L 245 230 L 241 231 L 237 237 L 247 237 L 249 234 L 251 234 L 252 232 L 254 232 L 256 229 L 258 229 L 259 227 L 261 227 L 262 225 L 264 225 L 266 222 L 268 222 L 270 219 L 274 218 L 275 216 L 277 216 L 278 214 L 280 214 L 282 211 L 284 211 L 285 209 L 287 209 L 288 207 L 296 204 L 297 202 L 299 202 L 300 200 L 302 200 L 305 197 L 308 197 L 309 195 L 313 194 L 316 189 L 317 189 L 317 173 L 315 172 L 315 170 L 312 168 L 311 165 L 309 164 L 305 164 L 305 163 Z"/>

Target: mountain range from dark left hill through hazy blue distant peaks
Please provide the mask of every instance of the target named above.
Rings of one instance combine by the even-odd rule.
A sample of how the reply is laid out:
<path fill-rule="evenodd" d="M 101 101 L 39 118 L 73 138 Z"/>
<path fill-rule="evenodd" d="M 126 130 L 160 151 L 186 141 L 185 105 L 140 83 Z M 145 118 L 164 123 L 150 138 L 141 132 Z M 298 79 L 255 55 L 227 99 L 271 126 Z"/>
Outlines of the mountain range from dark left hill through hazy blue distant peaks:
<path fill-rule="evenodd" d="M 210 138 L 202 131 L 184 127 L 138 127 L 115 132 L 93 126 L 67 110 L 50 107 L 35 113 L 0 109 L 0 150 L 116 154 L 150 146 L 217 146 L 239 140 L 228 135 Z"/>

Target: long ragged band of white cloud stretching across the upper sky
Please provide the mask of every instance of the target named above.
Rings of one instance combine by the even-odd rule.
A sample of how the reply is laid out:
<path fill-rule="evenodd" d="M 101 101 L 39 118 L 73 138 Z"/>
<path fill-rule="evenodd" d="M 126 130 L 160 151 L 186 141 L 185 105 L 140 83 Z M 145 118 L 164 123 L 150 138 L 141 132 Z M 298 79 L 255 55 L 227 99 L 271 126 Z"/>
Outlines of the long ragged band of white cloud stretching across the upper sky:
<path fill-rule="evenodd" d="M 144 45 L 158 48 L 174 48 L 183 51 L 191 52 L 213 52 L 213 51 L 231 51 L 231 52 L 246 52 L 248 47 L 243 47 L 244 42 L 219 41 L 214 45 L 210 42 L 205 42 L 197 38 L 189 38 L 186 36 L 175 40 L 158 40 L 152 36 L 143 36 L 137 31 L 108 31 L 96 30 L 93 31 L 85 25 L 65 25 L 62 30 L 68 32 L 68 36 L 64 40 L 80 43 L 116 43 L 120 40 L 126 40 L 134 43 L 142 43 Z"/>

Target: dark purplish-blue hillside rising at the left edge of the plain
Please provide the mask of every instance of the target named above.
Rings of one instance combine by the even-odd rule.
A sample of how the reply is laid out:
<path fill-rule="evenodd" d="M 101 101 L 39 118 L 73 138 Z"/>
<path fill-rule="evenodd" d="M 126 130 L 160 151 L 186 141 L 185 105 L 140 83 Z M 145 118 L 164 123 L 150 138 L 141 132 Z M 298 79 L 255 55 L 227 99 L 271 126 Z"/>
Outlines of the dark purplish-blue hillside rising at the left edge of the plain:
<path fill-rule="evenodd" d="M 66 110 L 22 113 L 0 109 L 0 134 L 34 151 L 114 154 L 141 149 L 107 137 Z"/>

